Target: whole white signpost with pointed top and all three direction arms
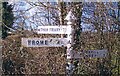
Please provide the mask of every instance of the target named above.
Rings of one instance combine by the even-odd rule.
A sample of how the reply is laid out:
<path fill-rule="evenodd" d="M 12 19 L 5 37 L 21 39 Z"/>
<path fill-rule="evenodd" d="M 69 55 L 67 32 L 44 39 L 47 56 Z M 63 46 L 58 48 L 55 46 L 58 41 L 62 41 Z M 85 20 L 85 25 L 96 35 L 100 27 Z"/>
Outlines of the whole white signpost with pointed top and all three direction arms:
<path fill-rule="evenodd" d="M 68 74 L 73 74 L 75 69 L 72 63 L 74 59 L 79 58 L 104 58 L 107 56 L 107 50 L 88 50 L 78 52 L 73 49 L 74 43 L 74 28 L 72 27 L 75 21 L 75 17 L 70 11 L 66 16 L 67 26 L 39 26 L 35 32 L 38 34 L 67 34 L 67 38 L 22 38 L 22 46 L 24 47 L 67 47 L 67 59 L 71 62 L 67 62 Z"/>

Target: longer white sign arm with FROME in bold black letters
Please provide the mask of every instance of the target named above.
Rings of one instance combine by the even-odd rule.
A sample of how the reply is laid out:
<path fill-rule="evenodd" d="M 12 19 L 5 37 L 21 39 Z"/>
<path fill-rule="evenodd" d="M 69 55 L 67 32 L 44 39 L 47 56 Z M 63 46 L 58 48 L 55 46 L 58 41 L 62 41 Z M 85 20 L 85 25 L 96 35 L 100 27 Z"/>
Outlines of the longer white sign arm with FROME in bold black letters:
<path fill-rule="evenodd" d="M 22 38 L 24 47 L 62 47 L 67 44 L 67 38 Z"/>

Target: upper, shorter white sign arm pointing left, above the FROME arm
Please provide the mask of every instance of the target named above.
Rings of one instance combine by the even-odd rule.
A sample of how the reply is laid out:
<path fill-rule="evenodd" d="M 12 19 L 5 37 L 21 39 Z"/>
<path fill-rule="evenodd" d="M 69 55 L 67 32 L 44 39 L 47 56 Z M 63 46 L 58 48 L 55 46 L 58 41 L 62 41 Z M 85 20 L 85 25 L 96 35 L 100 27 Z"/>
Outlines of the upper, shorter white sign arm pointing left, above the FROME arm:
<path fill-rule="evenodd" d="M 38 34 L 69 34 L 71 26 L 38 26 Z"/>

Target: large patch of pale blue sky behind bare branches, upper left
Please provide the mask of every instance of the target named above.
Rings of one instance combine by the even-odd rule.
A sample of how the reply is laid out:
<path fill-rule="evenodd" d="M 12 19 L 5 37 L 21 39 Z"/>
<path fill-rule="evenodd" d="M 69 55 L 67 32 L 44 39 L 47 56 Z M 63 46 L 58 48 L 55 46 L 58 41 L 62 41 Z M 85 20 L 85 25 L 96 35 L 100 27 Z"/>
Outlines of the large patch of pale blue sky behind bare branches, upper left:
<path fill-rule="evenodd" d="M 40 9 L 38 11 L 38 7 L 33 7 L 30 4 L 26 3 L 26 1 L 20 0 L 19 2 L 15 3 L 13 11 L 14 11 L 14 16 L 17 17 L 17 20 L 15 20 L 17 22 L 17 24 L 15 23 L 14 26 L 18 26 L 19 23 L 23 22 L 24 18 L 26 18 L 24 20 L 24 22 L 25 22 L 24 26 L 26 29 L 29 29 L 31 27 L 35 28 L 36 26 L 40 25 L 40 24 L 33 23 L 33 18 L 32 18 L 32 16 L 35 15 L 36 12 L 40 12 Z M 45 12 L 43 12 L 43 13 L 45 14 Z M 41 20 L 41 22 L 46 23 L 45 18 L 42 17 L 42 13 L 39 15 L 41 15 L 41 16 L 39 16 L 39 17 L 41 17 L 41 18 L 39 18 Z M 37 18 L 36 18 L 36 20 L 37 20 Z"/>

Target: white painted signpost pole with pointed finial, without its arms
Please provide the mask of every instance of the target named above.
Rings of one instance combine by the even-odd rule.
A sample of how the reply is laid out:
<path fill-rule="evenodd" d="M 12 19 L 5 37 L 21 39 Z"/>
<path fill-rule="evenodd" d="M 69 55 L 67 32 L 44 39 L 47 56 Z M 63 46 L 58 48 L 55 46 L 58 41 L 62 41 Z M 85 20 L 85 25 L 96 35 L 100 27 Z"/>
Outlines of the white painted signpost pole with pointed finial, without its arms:
<path fill-rule="evenodd" d="M 74 43 L 74 20 L 75 20 L 75 16 L 72 13 L 72 10 L 67 14 L 65 20 L 67 20 L 67 25 L 71 26 L 70 29 L 70 33 L 67 36 L 67 39 L 69 41 L 69 43 L 67 44 L 67 59 L 73 59 L 74 58 L 74 51 L 73 51 L 73 43 Z M 73 60 L 71 60 L 70 62 L 67 62 L 68 66 L 66 66 L 66 70 L 67 70 L 67 74 L 73 74 L 75 66 L 73 64 Z"/>

